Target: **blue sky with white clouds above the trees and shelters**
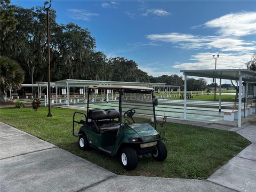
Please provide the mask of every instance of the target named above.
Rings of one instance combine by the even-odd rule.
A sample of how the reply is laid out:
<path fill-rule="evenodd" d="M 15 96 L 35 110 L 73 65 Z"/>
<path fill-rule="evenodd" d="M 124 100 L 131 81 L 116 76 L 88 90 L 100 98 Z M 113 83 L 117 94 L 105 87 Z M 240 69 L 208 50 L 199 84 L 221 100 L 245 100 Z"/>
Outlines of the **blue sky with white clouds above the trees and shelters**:
<path fill-rule="evenodd" d="M 44 1 L 12 1 L 22 7 Z M 256 1 L 53 1 L 57 22 L 89 28 L 97 51 L 149 75 L 244 68 L 256 53 Z"/>

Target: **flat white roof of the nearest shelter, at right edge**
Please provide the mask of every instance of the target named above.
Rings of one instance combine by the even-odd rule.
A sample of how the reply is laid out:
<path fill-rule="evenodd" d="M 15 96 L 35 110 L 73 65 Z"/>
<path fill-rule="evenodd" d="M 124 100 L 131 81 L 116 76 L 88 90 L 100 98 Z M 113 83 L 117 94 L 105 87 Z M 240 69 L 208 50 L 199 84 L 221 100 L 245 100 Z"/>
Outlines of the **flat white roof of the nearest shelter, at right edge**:
<path fill-rule="evenodd" d="M 221 78 L 256 82 L 256 71 L 249 69 L 206 69 L 206 70 L 180 70 L 183 74 L 196 77 Z"/>

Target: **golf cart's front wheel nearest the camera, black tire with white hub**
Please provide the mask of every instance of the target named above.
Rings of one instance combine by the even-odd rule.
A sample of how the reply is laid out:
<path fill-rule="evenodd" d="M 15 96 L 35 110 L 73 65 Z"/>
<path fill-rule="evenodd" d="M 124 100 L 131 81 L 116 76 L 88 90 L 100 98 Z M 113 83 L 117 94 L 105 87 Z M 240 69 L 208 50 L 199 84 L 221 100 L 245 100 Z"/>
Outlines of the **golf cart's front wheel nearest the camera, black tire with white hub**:
<path fill-rule="evenodd" d="M 138 165 L 137 153 L 132 147 L 123 148 L 120 153 L 120 159 L 124 169 L 128 171 L 134 170 Z"/>

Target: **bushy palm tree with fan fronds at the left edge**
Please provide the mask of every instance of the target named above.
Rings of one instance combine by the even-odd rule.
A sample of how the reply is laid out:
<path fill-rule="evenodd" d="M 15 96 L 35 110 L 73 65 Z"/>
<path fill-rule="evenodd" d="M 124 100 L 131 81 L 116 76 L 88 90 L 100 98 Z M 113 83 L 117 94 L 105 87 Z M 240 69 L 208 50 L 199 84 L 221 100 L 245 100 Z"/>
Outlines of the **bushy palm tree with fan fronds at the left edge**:
<path fill-rule="evenodd" d="M 0 56 L 0 102 L 6 102 L 6 91 L 20 89 L 24 71 L 20 65 L 7 57 Z"/>

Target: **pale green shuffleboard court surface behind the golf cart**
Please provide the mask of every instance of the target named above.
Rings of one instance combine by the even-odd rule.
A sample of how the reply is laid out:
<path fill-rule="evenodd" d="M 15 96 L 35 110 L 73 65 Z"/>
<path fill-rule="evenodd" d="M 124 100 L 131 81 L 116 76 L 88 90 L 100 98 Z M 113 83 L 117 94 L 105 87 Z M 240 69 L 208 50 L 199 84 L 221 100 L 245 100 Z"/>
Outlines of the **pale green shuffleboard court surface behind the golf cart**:
<path fill-rule="evenodd" d="M 137 114 L 153 115 L 151 101 L 124 101 L 122 103 L 123 112 L 129 109 L 135 109 Z M 218 102 L 215 101 L 189 101 L 193 103 L 195 107 L 187 107 L 187 118 L 194 119 L 197 121 L 204 122 L 217 122 L 223 120 L 223 112 L 219 112 L 219 109 L 216 108 L 219 106 Z M 158 106 L 156 106 L 156 115 L 164 116 L 171 118 L 183 118 L 183 106 L 177 106 L 176 103 L 182 103 L 182 101 L 177 100 L 158 100 Z M 173 104 L 173 105 L 172 105 Z M 233 102 L 223 102 L 227 108 L 233 106 Z M 86 107 L 86 103 L 77 103 L 74 106 Z M 202 107 L 198 107 L 202 106 Z M 209 107 L 208 107 L 209 106 Z M 118 102 L 98 102 L 90 103 L 90 108 L 98 109 L 108 109 L 115 108 L 118 110 Z M 224 109 L 225 111 L 225 109 Z"/>

